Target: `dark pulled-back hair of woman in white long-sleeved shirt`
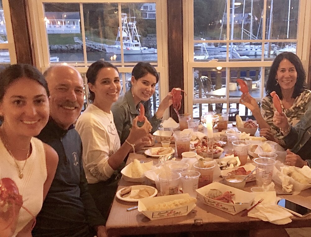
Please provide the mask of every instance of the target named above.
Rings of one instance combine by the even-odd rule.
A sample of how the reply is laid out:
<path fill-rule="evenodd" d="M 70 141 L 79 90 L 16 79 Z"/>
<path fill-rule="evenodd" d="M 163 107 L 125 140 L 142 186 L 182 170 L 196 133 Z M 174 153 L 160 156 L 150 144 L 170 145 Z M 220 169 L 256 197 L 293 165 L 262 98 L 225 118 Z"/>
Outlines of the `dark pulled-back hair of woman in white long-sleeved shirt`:
<path fill-rule="evenodd" d="M 118 68 L 109 62 L 98 60 L 95 63 L 92 63 L 91 66 L 86 71 L 87 83 L 91 83 L 92 85 L 94 85 L 95 81 L 96 81 L 97 74 L 100 71 L 100 69 L 109 68 L 109 67 L 113 68 L 114 70 L 116 70 L 119 73 Z M 89 98 L 88 99 L 89 99 L 90 103 L 93 103 L 94 99 L 95 99 L 95 94 L 93 91 L 91 91 L 91 90 L 89 90 L 89 91 L 90 92 L 89 92 Z"/>

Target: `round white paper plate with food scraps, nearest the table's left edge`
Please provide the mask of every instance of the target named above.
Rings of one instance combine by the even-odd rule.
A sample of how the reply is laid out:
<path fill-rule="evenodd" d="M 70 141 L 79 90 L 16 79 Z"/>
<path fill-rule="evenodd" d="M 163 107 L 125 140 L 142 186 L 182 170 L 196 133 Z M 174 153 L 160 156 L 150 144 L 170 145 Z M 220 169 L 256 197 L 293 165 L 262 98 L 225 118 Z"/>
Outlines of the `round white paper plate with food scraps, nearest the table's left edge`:
<path fill-rule="evenodd" d="M 147 185 L 132 185 L 117 191 L 118 199 L 125 202 L 138 202 L 139 199 L 155 197 L 158 193 L 156 188 Z"/>

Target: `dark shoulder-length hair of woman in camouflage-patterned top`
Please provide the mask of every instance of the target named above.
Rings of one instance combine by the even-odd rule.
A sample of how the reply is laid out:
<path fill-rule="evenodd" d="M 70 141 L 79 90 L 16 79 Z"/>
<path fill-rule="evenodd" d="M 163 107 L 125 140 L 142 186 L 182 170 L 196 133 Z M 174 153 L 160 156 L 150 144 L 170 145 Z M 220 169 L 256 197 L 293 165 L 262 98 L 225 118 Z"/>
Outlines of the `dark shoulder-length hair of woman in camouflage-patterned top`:
<path fill-rule="evenodd" d="M 297 72 L 297 81 L 294 87 L 294 91 L 292 94 L 292 98 L 296 98 L 302 91 L 304 91 L 305 87 L 305 80 L 306 80 L 306 73 L 304 71 L 304 67 L 298 56 L 291 52 L 283 52 L 276 56 L 274 59 L 272 66 L 270 67 L 270 72 L 268 76 L 268 80 L 266 83 L 266 93 L 270 95 L 272 91 L 275 91 L 276 94 L 282 100 L 282 92 L 281 87 L 279 84 L 276 85 L 276 73 L 279 65 L 283 59 L 287 59 L 292 64 L 294 64 L 296 72 Z"/>

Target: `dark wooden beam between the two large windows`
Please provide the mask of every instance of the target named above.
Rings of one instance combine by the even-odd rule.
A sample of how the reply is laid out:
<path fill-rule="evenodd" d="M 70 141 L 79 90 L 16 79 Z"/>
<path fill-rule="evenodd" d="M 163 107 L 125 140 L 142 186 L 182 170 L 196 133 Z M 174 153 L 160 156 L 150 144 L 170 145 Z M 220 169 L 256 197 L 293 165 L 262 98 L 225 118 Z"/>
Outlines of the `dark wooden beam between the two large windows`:
<path fill-rule="evenodd" d="M 168 25 L 168 61 L 169 90 L 174 87 L 183 89 L 183 1 L 167 0 Z M 191 95 L 189 95 L 191 96 Z M 184 100 L 179 111 L 184 113 Z M 178 121 L 177 115 L 170 106 L 170 115 Z"/>

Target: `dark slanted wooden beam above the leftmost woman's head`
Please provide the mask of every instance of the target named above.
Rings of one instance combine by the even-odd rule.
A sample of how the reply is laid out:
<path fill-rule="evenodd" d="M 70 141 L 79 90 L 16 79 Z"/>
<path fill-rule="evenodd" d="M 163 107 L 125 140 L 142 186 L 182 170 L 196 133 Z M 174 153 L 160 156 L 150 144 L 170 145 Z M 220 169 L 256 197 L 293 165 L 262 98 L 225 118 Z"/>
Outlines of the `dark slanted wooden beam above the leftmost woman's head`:
<path fill-rule="evenodd" d="M 10 0 L 9 5 L 17 63 L 33 65 L 26 1 L 27 0 Z"/>

